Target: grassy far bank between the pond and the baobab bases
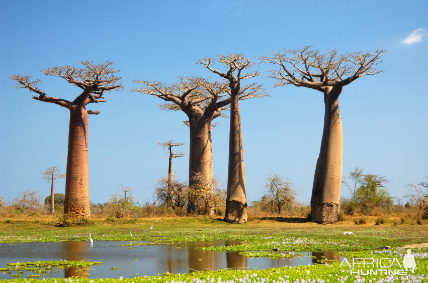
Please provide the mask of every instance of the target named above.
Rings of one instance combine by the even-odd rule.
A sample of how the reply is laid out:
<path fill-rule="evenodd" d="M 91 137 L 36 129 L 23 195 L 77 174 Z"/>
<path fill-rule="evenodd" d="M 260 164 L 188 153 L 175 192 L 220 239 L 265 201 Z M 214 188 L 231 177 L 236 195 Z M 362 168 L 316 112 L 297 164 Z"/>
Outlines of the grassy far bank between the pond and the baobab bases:
<path fill-rule="evenodd" d="M 311 238 L 323 240 L 358 240 L 362 249 L 376 249 L 383 246 L 398 247 L 426 241 L 426 220 L 422 225 L 391 223 L 374 225 L 355 225 L 352 222 L 338 222 L 331 225 L 320 225 L 313 222 L 287 222 L 283 218 L 267 220 L 253 218 L 243 225 L 229 224 L 212 218 L 166 218 L 166 219 L 133 219 L 106 222 L 94 220 L 91 226 L 58 227 L 53 221 L 14 220 L 0 221 L 0 242 L 35 242 L 35 241 L 82 241 L 89 239 L 89 232 L 97 240 L 148 240 L 170 242 L 183 240 L 242 240 L 252 242 L 255 235 L 276 238 Z M 149 229 L 153 224 L 153 229 Z M 344 231 L 352 231 L 356 237 L 344 237 Z M 323 249 L 326 244 L 317 244 Z"/>

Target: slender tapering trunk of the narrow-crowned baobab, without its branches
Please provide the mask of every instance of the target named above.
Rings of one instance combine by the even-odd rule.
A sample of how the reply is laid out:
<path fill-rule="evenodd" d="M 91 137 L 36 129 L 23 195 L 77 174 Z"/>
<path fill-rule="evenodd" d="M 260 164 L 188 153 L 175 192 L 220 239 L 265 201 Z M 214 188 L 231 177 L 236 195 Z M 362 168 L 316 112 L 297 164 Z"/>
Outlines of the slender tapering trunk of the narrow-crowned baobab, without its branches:
<path fill-rule="evenodd" d="M 231 223 L 247 221 L 241 115 L 238 99 L 237 94 L 232 95 L 230 102 L 229 170 L 224 220 Z"/>

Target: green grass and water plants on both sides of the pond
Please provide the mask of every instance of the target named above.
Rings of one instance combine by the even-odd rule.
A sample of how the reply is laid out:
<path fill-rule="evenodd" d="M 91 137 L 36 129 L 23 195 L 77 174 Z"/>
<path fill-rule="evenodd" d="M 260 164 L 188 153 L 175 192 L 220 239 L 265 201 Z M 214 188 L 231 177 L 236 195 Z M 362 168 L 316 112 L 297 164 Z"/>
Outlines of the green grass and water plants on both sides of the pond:
<path fill-rule="evenodd" d="M 131 221 L 132 220 L 132 221 Z M 367 218 L 366 223 L 355 225 L 353 219 L 330 225 L 320 225 L 298 218 L 267 217 L 250 218 L 248 223 L 236 225 L 229 224 L 221 219 L 203 217 L 183 217 L 166 219 L 121 219 L 105 221 L 92 220 L 89 226 L 58 227 L 52 220 L 3 220 L 0 221 L 0 242 L 34 242 L 34 241 L 66 241 L 89 239 L 91 232 L 94 241 L 97 240 L 131 240 L 129 231 L 132 231 L 133 240 L 147 240 L 153 243 L 180 242 L 192 240 L 239 240 L 240 245 L 231 247 L 207 247 L 210 250 L 235 250 L 242 254 L 253 256 L 273 256 L 273 248 L 280 252 L 287 250 L 343 250 L 349 258 L 381 257 L 385 252 L 388 255 L 403 256 L 403 249 L 383 250 L 384 246 L 402 247 L 407 244 L 426 242 L 428 222 L 421 221 L 421 225 L 414 225 L 405 221 L 400 225 L 393 225 L 393 220 L 385 219 L 384 224 L 375 225 L 376 218 Z M 400 223 L 401 221 L 397 221 Z M 153 229 L 149 229 L 153 224 Z M 344 231 L 352 231 L 355 236 L 344 236 Z M 374 252 L 373 252 L 374 251 Z M 254 255 L 254 252 L 259 253 Z M 428 252 L 422 249 L 421 252 Z M 287 253 L 283 253 L 283 256 Z M 281 255 L 281 253 L 277 253 Z M 275 255 L 274 255 L 275 256 Z M 422 276 L 408 277 L 410 282 L 428 281 L 428 253 L 426 257 L 417 258 L 417 271 Z M 52 265 L 50 265 L 52 266 Z M 83 267 L 83 266 L 82 266 Z M 120 270 L 118 270 L 118 274 Z M 337 274 L 337 275 L 336 275 Z M 389 275 L 388 275 L 389 276 Z M 366 276 L 365 280 L 382 281 L 387 275 Z M 393 275 L 391 275 L 393 276 Z M 410 275 L 409 275 L 410 276 Z M 412 274 L 413 276 L 413 274 Z M 220 277 L 220 279 L 219 279 Z M 317 264 L 311 266 L 281 267 L 265 270 L 217 270 L 206 272 L 193 272 L 191 274 L 164 274 L 159 276 L 144 276 L 134 278 L 120 278 L 117 281 L 155 281 L 155 282 L 188 282 L 209 283 L 224 282 L 265 282 L 287 281 L 309 282 L 322 279 L 331 282 L 354 282 L 358 280 L 351 276 L 349 270 L 340 268 L 339 263 L 329 265 Z M 393 277 L 390 277 L 393 279 Z M 398 278 L 398 277 L 397 277 Z M 10 282 L 41 281 L 42 278 L 14 278 Z M 239 281 L 240 279 L 240 281 Z M 337 280 L 339 279 L 339 280 Z M 62 281 L 63 279 L 56 279 Z M 55 279 L 46 279 L 45 282 L 54 282 Z M 67 281 L 76 281 L 76 278 Z M 99 278 L 79 278 L 79 282 L 97 282 Z M 107 279 L 104 279 L 107 280 Z M 108 279 L 113 280 L 113 279 Z M 400 279 L 401 280 L 401 279 Z M 314 281 L 314 282 L 315 282 Z"/>

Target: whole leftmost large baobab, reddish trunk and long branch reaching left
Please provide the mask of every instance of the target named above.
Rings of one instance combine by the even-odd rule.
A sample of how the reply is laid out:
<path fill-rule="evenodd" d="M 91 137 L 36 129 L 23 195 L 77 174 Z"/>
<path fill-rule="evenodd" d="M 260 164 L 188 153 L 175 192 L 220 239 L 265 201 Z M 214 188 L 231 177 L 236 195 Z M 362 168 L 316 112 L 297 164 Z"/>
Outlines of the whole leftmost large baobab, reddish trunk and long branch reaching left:
<path fill-rule="evenodd" d="M 88 170 L 88 115 L 100 112 L 87 110 L 90 103 L 105 102 L 104 92 L 122 88 L 121 78 L 115 74 L 119 70 L 112 67 L 113 62 L 94 64 L 93 61 L 79 61 L 83 68 L 74 66 L 54 66 L 41 71 L 47 76 L 65 79 L 68 83 L 83 90 L 73 101 L 47 96 L 38 88 L 39 79 L 31 76 L 13 75 L 17 88 L 28 88 L 37 93 L 33 98 L 65 107 L 70 111 L 68 129 L 68 154 L 65 178 L 64 215 L 73 217 L 90 217 L 89 170 Z"/>

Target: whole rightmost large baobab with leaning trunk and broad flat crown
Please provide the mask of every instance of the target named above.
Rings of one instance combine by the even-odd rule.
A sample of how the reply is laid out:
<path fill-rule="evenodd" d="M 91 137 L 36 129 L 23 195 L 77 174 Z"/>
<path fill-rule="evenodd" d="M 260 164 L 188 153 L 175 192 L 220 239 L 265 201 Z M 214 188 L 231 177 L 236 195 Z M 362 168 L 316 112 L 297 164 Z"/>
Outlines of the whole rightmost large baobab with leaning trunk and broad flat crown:
<path fill-rule="evenodd" d="M 343 139 L 339 95 L 344 86 L 359 77 L 375 75 L 385 50 L 338 55 L 336 50 L 320 53 L 312 46 L 283 49 L 262 56 L 264 63 L 278 66 L 270 71 L 276 86 L 292 84 L 323 93 L 324 129 L 312 187 L 311 218 L 319 223 L 338 220 L 342 176 Z"/>

